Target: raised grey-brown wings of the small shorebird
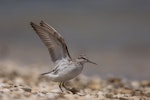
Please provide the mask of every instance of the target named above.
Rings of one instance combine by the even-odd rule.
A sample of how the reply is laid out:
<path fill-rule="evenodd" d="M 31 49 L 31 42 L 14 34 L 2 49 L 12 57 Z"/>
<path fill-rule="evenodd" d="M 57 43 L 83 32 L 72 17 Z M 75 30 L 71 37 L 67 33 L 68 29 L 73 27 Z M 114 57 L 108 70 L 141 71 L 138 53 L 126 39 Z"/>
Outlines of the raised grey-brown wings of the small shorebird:
<path fill-rule="evenodd" d="M 67 45 L 63 37 L 47 23 L 41 21 L 40 25 L 30 23 L 42 42 L 48 48 L 53 62 L 62 58 L 71 59 Z"/>

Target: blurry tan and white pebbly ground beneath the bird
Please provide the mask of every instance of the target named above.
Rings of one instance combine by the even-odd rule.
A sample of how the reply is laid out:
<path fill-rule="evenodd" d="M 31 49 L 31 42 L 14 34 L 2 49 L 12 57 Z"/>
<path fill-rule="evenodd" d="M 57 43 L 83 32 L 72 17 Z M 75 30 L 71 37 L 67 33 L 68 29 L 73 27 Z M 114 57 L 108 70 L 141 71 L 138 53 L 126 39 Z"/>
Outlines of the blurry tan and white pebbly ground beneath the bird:
<path fill-rule="evenodd" d="M 150 81 L 79 77 L 66 83 L 72 92 L 62 93 L 59 83 L 41 77 L 40 69 L 0 64 L 0 100 L 150 100 Z"/>

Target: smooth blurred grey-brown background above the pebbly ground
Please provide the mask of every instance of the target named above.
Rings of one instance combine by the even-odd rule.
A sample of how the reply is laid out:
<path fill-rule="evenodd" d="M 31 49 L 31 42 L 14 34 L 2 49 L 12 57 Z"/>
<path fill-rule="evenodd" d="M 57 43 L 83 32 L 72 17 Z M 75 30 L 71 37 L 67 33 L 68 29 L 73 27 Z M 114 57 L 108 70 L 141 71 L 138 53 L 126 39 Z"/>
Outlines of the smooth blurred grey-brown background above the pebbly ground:
<path fill-rule="evenodd" d="M 86 54 L 87 76 L 150 78 L 149 0 L 1 0 L 0 62 L 49 70 L 47 48 L 30 26 L 44 20 L 65 38 L 72 57 Z"/>

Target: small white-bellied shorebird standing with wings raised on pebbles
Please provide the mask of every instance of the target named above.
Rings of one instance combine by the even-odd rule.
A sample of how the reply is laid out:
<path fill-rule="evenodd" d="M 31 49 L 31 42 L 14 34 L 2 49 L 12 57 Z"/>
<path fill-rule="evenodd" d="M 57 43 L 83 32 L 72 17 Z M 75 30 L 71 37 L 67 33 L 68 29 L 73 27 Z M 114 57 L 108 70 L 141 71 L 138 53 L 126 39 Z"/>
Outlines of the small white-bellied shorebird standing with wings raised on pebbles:
<path fill-rule="evenodd" d="M 65 82 L 78 76 L 86 62 L 96 64 L 88 60 L 85 56 L 80 55 L 73 60 L 69 54 L 64 38 L 50 25 L 44 21 L 37 25 L 30 23 L 42 42 L 48 48 L 54 68 L 42 75 L 47 76 L 54 82 L 60 82 L 59 88 L 63 92 L 62 87 L 70 90 L 65 86 Z"/>

